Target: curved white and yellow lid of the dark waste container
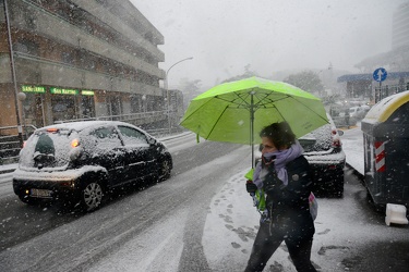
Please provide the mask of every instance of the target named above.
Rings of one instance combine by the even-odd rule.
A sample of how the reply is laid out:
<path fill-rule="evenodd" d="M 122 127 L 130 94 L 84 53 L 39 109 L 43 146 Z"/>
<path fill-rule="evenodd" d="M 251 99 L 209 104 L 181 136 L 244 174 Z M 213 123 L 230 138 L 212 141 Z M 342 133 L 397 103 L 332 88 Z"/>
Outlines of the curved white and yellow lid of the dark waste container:
<path fill-rule="evenodd" d="M 409 102 L 409 90 L 388 96 L 371 108 L 362 120 L 362 123 L 383 123 L 388 120 L 397 109 L 407 102 Z"/>

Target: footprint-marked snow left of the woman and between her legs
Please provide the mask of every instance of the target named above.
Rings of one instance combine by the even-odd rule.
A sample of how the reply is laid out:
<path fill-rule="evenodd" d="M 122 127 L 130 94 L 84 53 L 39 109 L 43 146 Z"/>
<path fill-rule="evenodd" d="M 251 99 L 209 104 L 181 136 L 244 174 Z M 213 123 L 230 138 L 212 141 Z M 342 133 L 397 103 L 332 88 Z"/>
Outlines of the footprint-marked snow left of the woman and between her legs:
<path fill-rule="evenodd" d="M 260 214 L 245 190 L 243 176 L 246 172 L 244 170 L 233 175 L 212 200 L 202 244 L 213 271 L 241 271 L 250 257 Z M 285 264 L 282 271 L 296 271 L 287 258 L 286 248 L 281 246 L 269 263 L 280 261 Z"/>

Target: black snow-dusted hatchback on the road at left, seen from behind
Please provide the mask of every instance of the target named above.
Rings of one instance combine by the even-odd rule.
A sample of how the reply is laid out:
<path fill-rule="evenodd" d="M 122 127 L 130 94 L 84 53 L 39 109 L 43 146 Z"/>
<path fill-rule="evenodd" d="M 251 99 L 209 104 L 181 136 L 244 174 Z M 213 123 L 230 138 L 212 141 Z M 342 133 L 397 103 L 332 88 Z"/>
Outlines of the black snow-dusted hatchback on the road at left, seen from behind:
<path fill-rule="evenodd" d="M 171 169 L 167 148 L 136 126 L 72 122 L 34 132 L 21 151 L 13 188 L 26 203 L 50 199 L 92 211 L 108 190 L 167 178 Z"/>

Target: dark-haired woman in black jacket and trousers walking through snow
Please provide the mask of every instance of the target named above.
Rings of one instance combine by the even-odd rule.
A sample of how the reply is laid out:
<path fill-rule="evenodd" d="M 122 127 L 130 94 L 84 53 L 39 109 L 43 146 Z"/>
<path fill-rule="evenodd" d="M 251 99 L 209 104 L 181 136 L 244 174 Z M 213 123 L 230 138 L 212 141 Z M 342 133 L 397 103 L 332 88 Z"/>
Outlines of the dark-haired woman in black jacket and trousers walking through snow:
<path fill-rule="evenodd" d="M 282 240 L 297 271 L 316 271 L 310 260 L 315 228 L 309 207 L 309 162 L 286 122 L 264 127 L 260 137 L 262 161 L 246 189 L 266 194 L 267 215 L 261 220 L 245 271 L 263 271 Z"/>

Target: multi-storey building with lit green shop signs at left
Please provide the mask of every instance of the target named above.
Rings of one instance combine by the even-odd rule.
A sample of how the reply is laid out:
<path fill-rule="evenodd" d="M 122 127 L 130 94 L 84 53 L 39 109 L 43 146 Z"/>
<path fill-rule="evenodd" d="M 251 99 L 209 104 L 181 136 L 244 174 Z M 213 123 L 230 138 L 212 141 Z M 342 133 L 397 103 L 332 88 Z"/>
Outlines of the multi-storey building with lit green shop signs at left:
<path fill-rule="evenodd" d="M 0 126 L 17 125 L 16 112 L 36 127 L 104 116 L 139 125 L 144 112 L 167 119 L 164 37 L 130 1 L 0 5 Z"/>

